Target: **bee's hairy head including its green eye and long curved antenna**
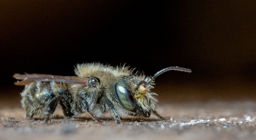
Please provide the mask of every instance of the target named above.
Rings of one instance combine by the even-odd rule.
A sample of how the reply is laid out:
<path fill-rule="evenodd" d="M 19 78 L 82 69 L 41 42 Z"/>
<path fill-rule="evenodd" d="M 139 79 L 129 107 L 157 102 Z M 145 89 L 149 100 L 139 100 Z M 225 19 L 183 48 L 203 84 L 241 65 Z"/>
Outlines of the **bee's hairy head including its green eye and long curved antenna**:
<path fill-rule="evenodd" d="M 144 80 L 141 80 L 143 76 L 123 76 L 115 84 L 115 92 L 119 103 L 132 115 L 149 117 L 157 104 L 157 98 L 155 97 L 157 94 L 150 92 L 150 89 L 153 88 L 151 84 L 157 76 L 170 70 L 191 72 L 190 69 L 168 67 L 158 71 L 152 77 L 144 77 Z M 129 114 L 128 112 L 126 114 Z"/>

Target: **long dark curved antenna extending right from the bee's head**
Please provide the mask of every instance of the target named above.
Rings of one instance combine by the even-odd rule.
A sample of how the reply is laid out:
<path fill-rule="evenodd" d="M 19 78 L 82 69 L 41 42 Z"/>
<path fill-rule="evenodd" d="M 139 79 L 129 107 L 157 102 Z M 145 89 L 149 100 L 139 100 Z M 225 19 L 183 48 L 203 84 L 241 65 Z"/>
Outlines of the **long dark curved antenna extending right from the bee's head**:
<path fill-rule="evenodd" d="M 154 80 L 157 76 L 159 76 L 160 74 L 164 73 L 164 72 L 167 72 L 167 71 L 170 71 L 170 70 L 174 70 L 174 71 L 184 71 L 184 72 L 192 72 L 191 69 L 186 69 L 186 68 L 181 68 L 181 67 L 178 67 L 178 66 L 172 66 L 172 67 L 168 67 L 168 68 L 164 68 L 158 72 L 156 72 L 156 74 L 153 76 L 153 77 L 150 77 L 149 80 L 147 80 L 145 86 L 149 85 L 152 80 Z"/>

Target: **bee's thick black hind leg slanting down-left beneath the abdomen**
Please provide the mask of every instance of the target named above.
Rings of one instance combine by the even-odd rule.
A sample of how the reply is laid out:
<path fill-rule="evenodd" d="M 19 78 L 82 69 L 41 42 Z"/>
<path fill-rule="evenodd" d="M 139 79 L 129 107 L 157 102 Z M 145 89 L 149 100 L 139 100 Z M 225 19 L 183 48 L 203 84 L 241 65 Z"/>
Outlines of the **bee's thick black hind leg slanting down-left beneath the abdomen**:
<path fill-rule="evenodd" d="M 47 105 L 46 109 L 45 109 L 45 120 L 44 123 L 47 124 L 47 122 L 50 120 L 51 123 L 51 118 L 50 116 L 53 114 L 53 112 L 55 111 L 57 104 L 58 104 L 58 98 L 59 97 L 55 97 L 53 98 L 52 101 L 50 101 L 50 103 Z"/>

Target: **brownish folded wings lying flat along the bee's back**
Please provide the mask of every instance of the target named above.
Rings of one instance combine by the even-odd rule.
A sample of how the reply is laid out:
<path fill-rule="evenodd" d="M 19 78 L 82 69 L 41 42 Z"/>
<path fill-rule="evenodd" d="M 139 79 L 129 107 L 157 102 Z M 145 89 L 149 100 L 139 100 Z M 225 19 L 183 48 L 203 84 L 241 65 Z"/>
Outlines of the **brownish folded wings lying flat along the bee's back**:
<path fill-rule="evenodd" d="M 63 82 L 69 84 L 81 84 L 81 85 L 88 85 L 89 81 L 88 78 L 81 78 L 77 76 L 55 76 L 49 74 L 14 74 L 13 77 L 15 79 L 21 80 L 17 81 L 15 85 L 26 85 L 33 81 L 42 81 L 42 82 Z"/>

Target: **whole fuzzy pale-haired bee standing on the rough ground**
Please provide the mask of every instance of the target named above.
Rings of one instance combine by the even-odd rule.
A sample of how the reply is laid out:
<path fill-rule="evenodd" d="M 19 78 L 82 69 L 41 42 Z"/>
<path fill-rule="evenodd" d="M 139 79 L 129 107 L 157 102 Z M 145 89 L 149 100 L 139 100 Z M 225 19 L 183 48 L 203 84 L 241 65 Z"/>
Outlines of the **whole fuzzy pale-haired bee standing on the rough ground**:
<path fill-rule="evenodd" d="M 110 66 L 101 63 L 77 64 L 76 76 L 55 76 L 49 74 L 14 74 L 19 81 L 15 85 L 25 85 L 21 92 L 21 105 L 26 116 L 32 119 L 39 114 L 47 123 L 57 105 L 64 116 L 86 113 L 100 122 L 100 116 L 110 112 L 120 124 L 122 115 L 150 117 L 151 113 L 164 119 L 156 112 L 157 94 L 151 92 L 154 80 L 160 74 L 175 70 L 191 72 L 180 67 L 164 68 L 154 76 L 135 72 L 130 66 Z"/>

